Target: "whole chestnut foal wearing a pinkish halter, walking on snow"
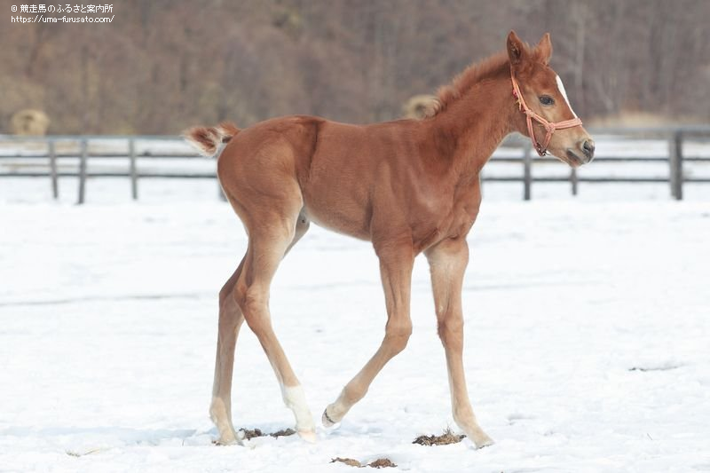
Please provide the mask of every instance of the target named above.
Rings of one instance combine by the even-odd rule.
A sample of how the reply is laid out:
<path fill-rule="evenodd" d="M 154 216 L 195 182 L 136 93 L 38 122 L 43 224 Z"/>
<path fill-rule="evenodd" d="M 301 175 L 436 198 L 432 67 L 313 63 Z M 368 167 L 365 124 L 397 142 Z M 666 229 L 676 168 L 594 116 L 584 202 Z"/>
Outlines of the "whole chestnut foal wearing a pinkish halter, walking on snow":
<path fill-rule="evenodd" d="M 412 333 L 412 267 L 423 253 L 454 421 L 477 447 L 492 443 L 473 414 L 462 359 L 461 282 L 469 261 L 466 235 L 481 202 L 480 171 L 513 131 L 530 137 L 540 154 L 549 151 L 574 167 L 594 154 L 594 142 L 548 67 L 551 52 L 548 34 L 531 47 L 511 31 L 507 51 L 466 69 L 439 91 L 437 106 L 422 120 L 351 125 L 287 116 L 245 130 L 225 123 L 185 133 L 203 154 L 217 154 L 226 143 L 217 175 L 248 233 L 246 255 L 219 293 L 210 406 L 218 443 L 239 442 L 231 390 L 234 345 L 244 320 L 264 347 L 296 430 L 315 438 L 304 390 L 273 333 L 269 311 L 274 272 L 311 222 L 372 241 L 387 306 L 382 345 L 326 407 L 323 424 L 340 422 L 375 375 L 404 350 Z"/>

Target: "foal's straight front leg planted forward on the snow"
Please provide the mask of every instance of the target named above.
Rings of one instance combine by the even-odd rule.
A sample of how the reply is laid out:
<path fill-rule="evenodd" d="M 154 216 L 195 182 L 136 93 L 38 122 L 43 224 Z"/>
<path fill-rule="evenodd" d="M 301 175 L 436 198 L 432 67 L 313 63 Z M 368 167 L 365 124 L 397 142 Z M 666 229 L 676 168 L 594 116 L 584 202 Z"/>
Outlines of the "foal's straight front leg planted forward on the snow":
<path fill-rule="evenodd" d="M 477 448 L 492 445 L 493 440 L 476 422 L 463 372 L 461 286 L 463 273 L 469 263 L 469 245 L 464 238 L 446 240 L 427 250 L 426 256 L 430 264 L 431 286 L 437 310 L 438 336 L 446 351 L 454 422 L 466 432 Z"/>

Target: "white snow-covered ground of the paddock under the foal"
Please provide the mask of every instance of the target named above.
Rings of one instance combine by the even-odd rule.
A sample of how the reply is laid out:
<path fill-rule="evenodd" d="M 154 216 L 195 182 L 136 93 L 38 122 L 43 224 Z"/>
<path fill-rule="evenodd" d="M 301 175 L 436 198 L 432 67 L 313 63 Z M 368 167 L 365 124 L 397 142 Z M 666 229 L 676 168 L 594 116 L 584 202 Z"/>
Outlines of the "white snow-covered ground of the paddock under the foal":
<path fill-rule="evenodd" d="M 564 169 L 563 165 L 559 165 Z M 591 168 L 590 168 L 591 169 Z M 710 471 L 710 185 L 488 185 L 464 282 L 470 395 L 496 444 L 413 445 L 455 429 L 428 270 L 414 335 L 339 430 L 218 447 L 207 415 L 217 291 L 244 252 L 214 182 L 91 180 L 59 203 L 0 181 L 0 471 Z M 611 189 L 611 191 L 610 191 Z M 385 322 L 367 243 L 313 228 L 272 287 L 272 314 L 319 418 Z M 292 426 L 248 327 L 235 426 Z"/>

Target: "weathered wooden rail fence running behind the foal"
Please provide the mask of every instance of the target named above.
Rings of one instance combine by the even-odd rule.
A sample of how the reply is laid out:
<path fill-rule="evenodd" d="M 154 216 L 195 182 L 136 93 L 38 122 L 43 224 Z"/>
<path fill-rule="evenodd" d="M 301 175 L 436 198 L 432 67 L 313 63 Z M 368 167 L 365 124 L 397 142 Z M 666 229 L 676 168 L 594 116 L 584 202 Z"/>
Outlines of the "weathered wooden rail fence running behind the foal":
<path fill-rule="evenodd" d="M 643 176 L 603 176 L 580 177 L 576 169 L 571 169 L 568 176 L 533 176 L 533 166 L 551 162 L 554 158 L 538 158 L 534 156 L 529 140 L 521 137 L 511 138 L 504 142 L 503 147 L 493 154 L 491 162 L 519 163 L 522 174 L 517 176 L 495 176 L 484 172 L 484 182 L 520 182 L 523 185 L 523 198 L 530 200 L 535 182 L 567 182 L 571 186 L 572 195 L 576 195 L 580 183 L 667 183 L 670 194 L 676 200 L 682 200 L 683 184 L 710 183 L 710 174 L 706 177 L 687 176 L 683 165 L 689 162 L 710 163 L 710 152 L 707 156 L 687 155 L 684 153 L 686 142 L 708 143 L 710 147 L 710 125 L 682 126 L 675 128 L 627 128 L 594 129 L 593 136 L 604 136 L 607 139 L 664 139 L 667 141 L 666 156 L 649 155 L 599 155 L 595 162 L 666 162 L 667 177 Z M 130 179 L 130 195 L 138 199 L 138 183 L 146 178 L 196 178 L 215 179 L 215 169 L 180 171 L 170 165 L 162 165 L 162 169 L 140 169 L 138 160 L 204 160 L 194 154 L 187 146 L 179 143 L 179 137 L 164 136 L 50 136 L 50 137 L 16 137 L 0 135 L 0 177 L 39 177 L 49 178 L 52 195 L 59 197 L 59 177 L 78 177 L 77 202 L 83 203 L 86 198 L 86 181 L 88 178 L 128 177 Z M 94 146 L 92 146 L 94 145 Z M 34 147 L 33 147 L 34 146 Z M 102 148 L 100 151 L 91 148 Z M 61 149 L 60 149 L 61 148 Z M 118 148 L 118 151 L 116 150 Z M 157 148 L 157 149 L 154 149 Z M 168 149 L 166 149 L 168 148 Z M 173 148 L 170 150 L 170 148 Z M 515 155 L 501 154 L 501 149 L 517 149 Z M 597 153 L 600 146 L 597 145 Z M 99 162 L 107 159 L 128 160 L 127 166 L 114 169 L 89 169 L 89 161 Z M 72 162 L 72 164 L 68 164 Z M 61 166 L 59 163 L 63 163 Z M 593 166 L 593 164 L 592 164 Z M 489 166 L 490 167 L 490 166 Z M 64 169 L 60 169 L 64 168 Z M 485 169 L 486 170 L 486 169 Z"/>

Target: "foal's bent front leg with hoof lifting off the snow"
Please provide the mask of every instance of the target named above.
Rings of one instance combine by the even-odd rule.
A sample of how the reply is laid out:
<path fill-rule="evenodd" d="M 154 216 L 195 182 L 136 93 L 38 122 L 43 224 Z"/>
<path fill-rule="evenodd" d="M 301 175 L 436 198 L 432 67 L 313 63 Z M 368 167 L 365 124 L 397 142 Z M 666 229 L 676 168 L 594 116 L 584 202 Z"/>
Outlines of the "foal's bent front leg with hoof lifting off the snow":
<path fill-rule="evenodd" d="M 377 254 L 380 257 L 380 273 L 387 304 L 387 326 L 383 343 L 365 367 L 345 385 L 335 402 L 326 407 L 322 418 L 326 427 L 340 422 L 351 407 L 365 396 L 375 376 L 392 357 L 405 349 L 409 335 L 412 334 L 409 300 L 414 250 L 411 245 L 406 245 L 378 251 Z"/>

